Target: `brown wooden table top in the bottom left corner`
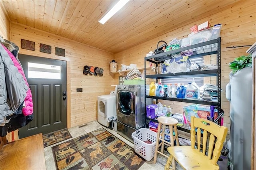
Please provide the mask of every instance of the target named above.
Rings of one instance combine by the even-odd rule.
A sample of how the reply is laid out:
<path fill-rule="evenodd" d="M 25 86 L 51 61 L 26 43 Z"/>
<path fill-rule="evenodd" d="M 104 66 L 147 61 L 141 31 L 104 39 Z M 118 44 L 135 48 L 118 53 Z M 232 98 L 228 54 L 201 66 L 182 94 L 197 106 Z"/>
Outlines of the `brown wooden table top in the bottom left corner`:
<path fill-rule="evenodd" d="M 42 133 L 5 144 L 0 152 L 1 170 L 45 170 Z"/>

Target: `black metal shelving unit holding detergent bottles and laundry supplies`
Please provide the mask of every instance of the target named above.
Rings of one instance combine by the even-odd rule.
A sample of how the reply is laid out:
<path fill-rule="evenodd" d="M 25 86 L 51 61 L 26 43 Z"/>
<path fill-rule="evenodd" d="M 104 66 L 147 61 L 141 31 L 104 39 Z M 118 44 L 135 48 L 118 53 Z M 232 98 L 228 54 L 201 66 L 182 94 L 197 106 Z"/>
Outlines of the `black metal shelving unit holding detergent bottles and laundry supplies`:
<path fill-rule="evenodd" d="M 203 101 L 200 99 L 178 99 L 178 98 L 173 98 L 173 97 L 156 97 L 156 96 L 148 96 L 145 95 L 145 103 L 146 103 L 146 98 L 151 98 L 151 99 L 161 99 L 161 100 L 168 100 L 168 101 L 179 101 L 179 102 L 185 102 L 185 103 L 194 103 L 194 104 L 202 104 L 202 105 L 213 105 L 213 106 L 218 106 L 221 107 L 221 97 L 220 97 L 220 78 L 221 78 L 221 69 L 220 69 L 220 42 L 221 38 L 217 38 L 214 40 L 210 40 L 207 42 L 202 42 L 194 45 L 190 45 L 187 47 L 182 47 L 180 49 L 175 49 L 172 51 L 164 52 L 164 53 L 159 53 L 156 55 L 152 55 L 149 57 L 145 57 L 144 61 L 144 73 L 145 73 L 145 79 L 156 79 L 156 82 L 158 79 L 170 79 L 170 78 L 189 78 L 189 77 L 211 77 L 215 76 L 216 77 L 216 86 L 218 87 L 218 97 L 217 100 L 211 100 L 211 101 Z M 193 54 L 189 56 L 189 58 L 193 57 L 199 57 L 199 56 L 204 56 L 204 55 L 211 55 L 211 54 L 216 54 L 216 59 L 217 59 L 217 69 L 214 70 L 204 70 L 204 71 L 190 71 L 190 72 L 185 72 L 185 73 L 168 73 L 168 74 L 156 74 L 156 75 L 146 75 L 146 61 L 150 61 L 152 63 L 155 63 L 156 65 L 164 63 L 164 61 L 155 61 L 154 58 L 156 57 L 162 57 L 162 56 L 172 56 L 172 58 L 180 57 L 182 56 L 183 53 L 186 53 L 187 51 L 193 51 Z M 146 80 L 145 80 L 145 86 L 146 86 Z M 145 91 L 146 94 L 146 91 Z M 146 106 L 145 106 L 146 108 Z M 223 114 L 223 113 L 222 113 Z M 221 115 L 222 116 L 222 115 Z M 220 117 L 221 117 L 220 116 Z M 157 121 L 157 120 L 153 120 Z M 215 121 L 214 121 L 215 122 Z M 189 132 L 187 128 L 178 127 L 178 129 Z"/>

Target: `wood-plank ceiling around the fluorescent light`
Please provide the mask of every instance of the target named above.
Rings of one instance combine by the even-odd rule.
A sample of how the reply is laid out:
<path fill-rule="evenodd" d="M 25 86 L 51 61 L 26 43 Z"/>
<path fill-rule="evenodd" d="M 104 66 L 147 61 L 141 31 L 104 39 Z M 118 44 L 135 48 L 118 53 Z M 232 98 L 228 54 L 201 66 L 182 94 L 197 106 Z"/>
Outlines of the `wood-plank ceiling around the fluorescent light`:
<path fill-rule="evenodd" d="M 104 25 L 98 20 L 118 0 L 2 0 L 11 22 L 117 53 L 197 19 L 236 0 L 130 0 Z M 152 44 L 153 45 L 153 44 Z"/>

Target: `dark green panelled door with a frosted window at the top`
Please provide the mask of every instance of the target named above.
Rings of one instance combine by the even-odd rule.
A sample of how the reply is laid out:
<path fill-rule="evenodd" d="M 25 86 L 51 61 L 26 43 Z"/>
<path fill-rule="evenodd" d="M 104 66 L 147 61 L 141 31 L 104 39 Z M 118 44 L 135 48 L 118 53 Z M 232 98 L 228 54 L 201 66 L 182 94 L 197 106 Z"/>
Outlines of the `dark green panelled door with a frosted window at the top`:
<path fill-rule="evenodd" d="M 19 138 L 67 127 L 66 61 L 19 54 L 32 92 L 34 119 L 19 129 Z"/>

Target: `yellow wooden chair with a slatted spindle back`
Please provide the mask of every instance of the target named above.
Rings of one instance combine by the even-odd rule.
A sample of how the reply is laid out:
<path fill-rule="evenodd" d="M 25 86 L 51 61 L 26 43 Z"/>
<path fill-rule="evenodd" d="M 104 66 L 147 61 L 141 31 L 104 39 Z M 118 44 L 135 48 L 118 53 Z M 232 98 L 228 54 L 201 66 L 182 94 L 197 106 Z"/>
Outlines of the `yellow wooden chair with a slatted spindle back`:
<path fill-rule="evenodd" d="M 196 130 L 197 133 L 197 149 L 196 143 Z M 202 137 L 202 152 L 200 150 L 201 144 L 201 130 L 203 131 Z M 217 164 L 220 152 L 223 147 L 223 142 L 226 138 L 228 128 L 219 126 L 212 121 L 202 118 L 191 117 L 191 146 L 170 146 L 168 152 L 170 156 L 167 160 L 165 170 L 172 169 L 170 165 L 172 160 L 175 159 L 182 168 L 186 170 L 218 170 Z M 209 136 L 209 137 L 208 137 Z M 207 142 L 208 140 L 208 142 Z M 207 146 L 208 143 L 208 146 Z M 206 148 L 208 148 L 206 150 Z"/>

